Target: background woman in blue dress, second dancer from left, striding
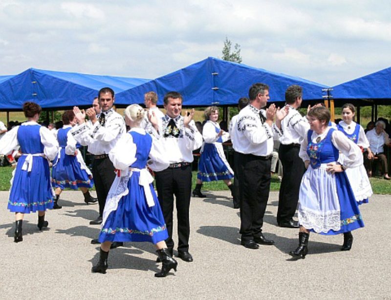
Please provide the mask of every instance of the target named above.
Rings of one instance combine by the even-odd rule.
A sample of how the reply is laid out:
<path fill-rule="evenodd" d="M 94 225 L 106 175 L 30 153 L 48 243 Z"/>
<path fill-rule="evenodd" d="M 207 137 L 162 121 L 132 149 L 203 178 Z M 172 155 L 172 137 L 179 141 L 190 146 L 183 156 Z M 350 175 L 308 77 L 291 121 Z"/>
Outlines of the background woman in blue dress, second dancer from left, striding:
<path fill-rule="evenodd" d="M 56 199 L 54 209 L 62 208 L 58 204 L 61 192 L 66 188 L 78 189 L 83 192 L 84 202 L 95 203 L 97 198 L 92 198 L 88 188 L 93 187 L 92 173 L 88 169 L 83 157 L 78 150 L 81 145 L 70 134 L 72 126 L 77 119 L 73 111 L 65 111 L 63 114 L 63 128 L 57 131 L 57 139 L 60 144 L 58 155 L 52 167 L 52 184 L 55 187 Z"/>

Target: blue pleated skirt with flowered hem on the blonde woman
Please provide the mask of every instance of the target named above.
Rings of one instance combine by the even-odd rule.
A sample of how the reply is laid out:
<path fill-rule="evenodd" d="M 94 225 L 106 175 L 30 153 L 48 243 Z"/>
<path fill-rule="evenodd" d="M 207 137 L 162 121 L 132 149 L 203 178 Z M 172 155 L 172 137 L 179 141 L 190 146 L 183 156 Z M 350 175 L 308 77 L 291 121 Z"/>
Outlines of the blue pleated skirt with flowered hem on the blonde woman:
<path fill-rule="evenodd" d="M 149 207 L 144 188 L 138 184 L 140 173 L 133 172 L 129 193 L 118 202 L 103 224 L 99 242 L 151 242 L 156 244 L 168 238 L 166 223 L 152 184 L 150 185 L 155 205 Z"/>

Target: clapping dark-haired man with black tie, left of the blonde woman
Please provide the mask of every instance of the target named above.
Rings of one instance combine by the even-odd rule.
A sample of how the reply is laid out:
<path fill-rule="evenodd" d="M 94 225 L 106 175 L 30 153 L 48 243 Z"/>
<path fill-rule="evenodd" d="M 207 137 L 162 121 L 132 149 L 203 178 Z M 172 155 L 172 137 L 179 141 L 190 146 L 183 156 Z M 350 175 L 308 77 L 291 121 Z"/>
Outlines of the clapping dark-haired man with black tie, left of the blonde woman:
<path fill-rule="evenodd" d="M 70 132 L 82 145 L 88 146 L 88 152 L 94 155 L 92 175 L 99 203 L 99 216 L 90 222 L 91 225 L 102 223 L 103 210 L 109 189 L 115 179 L 114 166 L 109 160 L 109 151 L 114 147 L 120 136 L 125 133 L 124 118 L 113 109 L 114 91 L 103 88 L 99 91 L 101 113 L 96 115 L 94 108 L 87 109 L 84 114 L 78 107 L 73 109 L 78 125 Z M 91 127 L 85 122 L 85 116 L 91 121 Z M 93 243 L 96 240 L 92 240 Z"/>

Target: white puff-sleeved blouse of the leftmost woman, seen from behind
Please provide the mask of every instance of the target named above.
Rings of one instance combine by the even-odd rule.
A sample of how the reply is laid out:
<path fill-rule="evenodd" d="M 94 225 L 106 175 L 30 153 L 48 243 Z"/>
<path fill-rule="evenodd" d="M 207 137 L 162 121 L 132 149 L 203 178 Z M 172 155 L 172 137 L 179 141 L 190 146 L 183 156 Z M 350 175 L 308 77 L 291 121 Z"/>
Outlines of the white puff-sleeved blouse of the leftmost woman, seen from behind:
<path fill-rule="evenodd" d="M 37 122 L 28 121 L 22 123 L 21 126 L 31 126 L 31 125 L 39 125 Z M 0 153 L 7 155 L 10 154 L 13 150 L 17 150 L 19 148 L 18 141 L 18 128 L 19 126 L 15 126 L 10 131 L 8 131 L 3 138 L 1 138 L 0 144 Z M 57 155 L 58 151 L 58 141 L 56 137 L 44 126 L 40 127 L 40 137 L 41 142 L 43 144 L 43 154 L 47 157 L 48 160 L 52 161 Z"/>

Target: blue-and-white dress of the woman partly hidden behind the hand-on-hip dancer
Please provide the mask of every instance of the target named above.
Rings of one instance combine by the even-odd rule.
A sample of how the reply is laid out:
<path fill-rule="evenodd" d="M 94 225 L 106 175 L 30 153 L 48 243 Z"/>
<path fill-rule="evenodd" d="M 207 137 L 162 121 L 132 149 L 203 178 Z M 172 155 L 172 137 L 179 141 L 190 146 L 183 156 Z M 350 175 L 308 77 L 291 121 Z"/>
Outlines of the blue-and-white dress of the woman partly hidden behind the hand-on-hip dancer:
<path fill-rule="evenodd" d="M 355 122 L 352 122 L 352 126 L 354 126 Z M 342 131 L 348 139 L 353 141 L 358 146 L 361 146 L 363 148 L 369 147 L 369 141 L 367 137 L 365 136 L 364 129 L 362 129 L 360 124 L 357 124 L 354 126 L 354 131 L 351 134 L 348 134 L 348 132 L 345 130 L 344 127 L 348 127 L 348 124 L 341 121 L 337 128 L 339 131 Z M 361 132 L 361 134 L 360 134 Z M 359 140 L 361 142 L 359 143 Z M 364 143 L 364 144 L 362 144 Z M 344 158 L 345 156 L 343 154 L 340 154 L 339 162 L 341 164 L 344 164 Z M 367 171 L 365 170 L 364 164 L 361 164 L 357 167 L 348 168 L 346 170 L 346 175 L 348 176 L 348 180 L 350 182 L 351 188 L 354 193 L 354 197 L 357 200 L 357 203 L 359 205 L 363 203 L 368 203 L 368 198 L 373 194 L 372 187 L 369 182 Z"/>

